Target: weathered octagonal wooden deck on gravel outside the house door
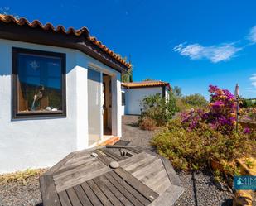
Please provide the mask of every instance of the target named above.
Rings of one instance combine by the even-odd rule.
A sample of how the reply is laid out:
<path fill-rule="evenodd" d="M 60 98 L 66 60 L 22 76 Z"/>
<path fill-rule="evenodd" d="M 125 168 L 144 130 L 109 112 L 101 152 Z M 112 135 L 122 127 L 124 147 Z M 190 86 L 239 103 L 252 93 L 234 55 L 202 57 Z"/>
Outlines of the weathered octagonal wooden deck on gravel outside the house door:
<path fill-rule="evenodd" d="M 70 153 L 40 182 L 44 206 L 169 206 L 184 190 L 169 160 L 136 146 Z"/>

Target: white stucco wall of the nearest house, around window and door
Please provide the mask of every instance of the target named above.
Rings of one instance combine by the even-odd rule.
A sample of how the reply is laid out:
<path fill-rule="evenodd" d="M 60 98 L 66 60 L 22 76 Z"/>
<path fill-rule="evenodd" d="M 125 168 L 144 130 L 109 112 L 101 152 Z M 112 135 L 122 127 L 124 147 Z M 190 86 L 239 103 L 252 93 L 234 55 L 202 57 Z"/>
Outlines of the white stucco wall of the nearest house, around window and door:
<path fill-rule="evenodd" d="M 66 54 L 66 117 L 12 120 L 12 46 Z M 114 132 L 121 136 L 120 74 L 78 50 L 0 39 L 0 173 L 56 164 L 88 147 L 87 69 L 113 76 Z"/>

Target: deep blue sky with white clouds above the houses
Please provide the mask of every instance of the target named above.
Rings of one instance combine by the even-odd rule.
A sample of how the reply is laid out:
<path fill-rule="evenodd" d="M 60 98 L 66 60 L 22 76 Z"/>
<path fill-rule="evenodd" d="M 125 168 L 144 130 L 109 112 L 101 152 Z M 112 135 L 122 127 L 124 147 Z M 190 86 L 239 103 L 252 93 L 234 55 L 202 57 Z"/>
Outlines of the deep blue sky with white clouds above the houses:
<path fill-rule="evenodd" d="M 168 81 L 206 97 L 209 84 L 234 92 L 239 83 L 244 97 L 256 98 L 253 0 L 14 0 L 0 7 L 30 21 L 87 26 L 110 49 L 132 56 L 135 81 Z"/>

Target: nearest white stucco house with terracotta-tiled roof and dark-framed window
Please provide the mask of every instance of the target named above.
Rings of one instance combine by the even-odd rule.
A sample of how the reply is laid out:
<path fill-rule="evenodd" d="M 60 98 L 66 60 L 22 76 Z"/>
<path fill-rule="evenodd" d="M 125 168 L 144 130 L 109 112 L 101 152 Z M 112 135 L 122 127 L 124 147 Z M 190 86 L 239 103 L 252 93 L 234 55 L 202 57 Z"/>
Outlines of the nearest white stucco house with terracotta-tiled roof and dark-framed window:
<path fill-rule="evenodd" d="M 121 137 L 131 65 L 80 30 L 0 15 L 0 173 Z"/>

